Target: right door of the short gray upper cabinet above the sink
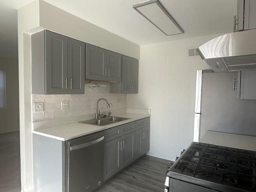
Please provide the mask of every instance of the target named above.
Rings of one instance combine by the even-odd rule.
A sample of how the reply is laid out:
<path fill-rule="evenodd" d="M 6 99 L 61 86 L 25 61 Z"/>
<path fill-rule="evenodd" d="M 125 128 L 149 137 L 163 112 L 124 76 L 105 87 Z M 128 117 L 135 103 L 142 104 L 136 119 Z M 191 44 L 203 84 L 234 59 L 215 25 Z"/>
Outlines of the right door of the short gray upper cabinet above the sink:
<path fill-rule="evenodd" d="M 122 81 L 122 55 L 107 50 L 107 81 Z"/>

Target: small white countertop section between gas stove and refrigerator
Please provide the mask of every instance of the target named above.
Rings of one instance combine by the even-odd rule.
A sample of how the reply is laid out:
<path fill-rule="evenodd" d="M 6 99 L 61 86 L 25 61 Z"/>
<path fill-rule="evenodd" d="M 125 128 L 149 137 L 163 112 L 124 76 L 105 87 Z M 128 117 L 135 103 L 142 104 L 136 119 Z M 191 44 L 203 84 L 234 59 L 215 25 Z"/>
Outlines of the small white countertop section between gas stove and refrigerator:
<path fill-rule="evenodd" d="M 220 145 L 225 147 L 256 151 L 255 136 L 207 131 L 202 137 L 202 139 L 200 140 L 200 142 Z"/>

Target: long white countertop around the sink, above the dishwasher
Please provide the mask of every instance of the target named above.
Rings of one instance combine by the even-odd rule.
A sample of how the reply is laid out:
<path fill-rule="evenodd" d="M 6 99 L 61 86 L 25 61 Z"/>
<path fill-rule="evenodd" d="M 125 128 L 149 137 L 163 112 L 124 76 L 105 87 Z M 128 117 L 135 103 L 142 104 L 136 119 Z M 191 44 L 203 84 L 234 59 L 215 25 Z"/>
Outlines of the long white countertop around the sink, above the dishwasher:
<path fill-rule="evenodd" d="M 126 114 L 120 114 L 117 115 L 118 117 L 124 117 L 129 118 L 128 120 L 124 120 L 121 122 L 116 122 L 113 124 L 109 124 L 106 126 L 96 126 L 96 125 L 90 125 L 90 124 L 83 124 L 83 123 L 70 123 L 60 126 L 54 126 L 54 127 L 48 127 L 48 128 L 42 128 L 39 130 L 34 130 L 32 133 L 39 134 L 42 136 L 66 141 L 73 138 L 77 138 L 80 136 L 88 135 L 91 133 L 95 133 L 98 131 L 106 130 L 111 127 L 115 127 L 118 125 L 126 124 L 132 121 L 140 120 L 146 117 L 149 117 L 149 114 L 133 114 L 133 113 L 126 113 Z"/>

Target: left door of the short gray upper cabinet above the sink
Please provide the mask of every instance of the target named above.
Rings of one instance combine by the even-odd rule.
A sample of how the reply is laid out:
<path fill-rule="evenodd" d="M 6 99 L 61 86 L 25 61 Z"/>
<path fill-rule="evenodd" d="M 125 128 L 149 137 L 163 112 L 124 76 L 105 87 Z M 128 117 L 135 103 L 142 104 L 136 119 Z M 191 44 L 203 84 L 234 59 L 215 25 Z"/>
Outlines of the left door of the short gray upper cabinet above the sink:
<path fill-rule="evenodd" d="M 106 80 L 106 50 L 86 44 L 86 79 Z"/>

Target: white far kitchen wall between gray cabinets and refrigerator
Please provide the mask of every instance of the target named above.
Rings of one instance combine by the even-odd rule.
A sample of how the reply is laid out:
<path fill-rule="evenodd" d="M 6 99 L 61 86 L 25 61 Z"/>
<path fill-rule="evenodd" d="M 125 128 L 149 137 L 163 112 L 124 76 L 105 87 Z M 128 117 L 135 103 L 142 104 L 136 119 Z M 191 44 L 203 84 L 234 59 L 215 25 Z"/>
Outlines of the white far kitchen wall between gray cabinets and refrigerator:
<path fill-rule="evenodd" d="M 214 37 L 140 47 L 139 91 L 127 94 L 127 107 L 151 109 L 149 154 L 175 160 L 192 142 L 196 70 L 210 67 L 187 51 Z"/>

